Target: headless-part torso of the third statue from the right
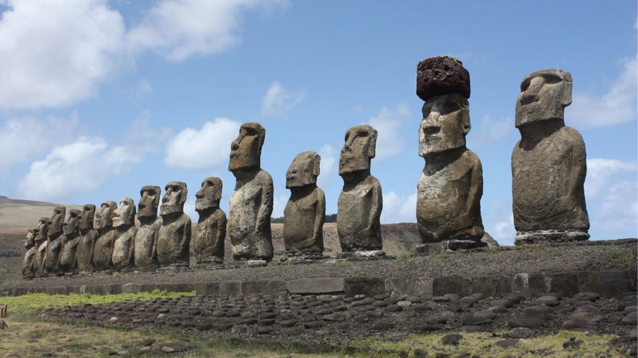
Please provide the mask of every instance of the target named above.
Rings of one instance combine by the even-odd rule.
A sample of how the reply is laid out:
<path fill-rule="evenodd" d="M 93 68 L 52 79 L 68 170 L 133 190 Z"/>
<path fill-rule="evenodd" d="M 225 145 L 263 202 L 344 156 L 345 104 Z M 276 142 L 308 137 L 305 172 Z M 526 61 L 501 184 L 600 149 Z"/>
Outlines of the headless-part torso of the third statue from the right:
<path fill-rule="evenodd" d="M 341 191 L 338 201 L 337 231 L 343 251 L 382 248 L 380 215 L 370 222 L 371 208 L 381 201 L 381 184 L 371 175 L 354 187 Z M 380 213 L 380 208 L 378 211 Z"/>

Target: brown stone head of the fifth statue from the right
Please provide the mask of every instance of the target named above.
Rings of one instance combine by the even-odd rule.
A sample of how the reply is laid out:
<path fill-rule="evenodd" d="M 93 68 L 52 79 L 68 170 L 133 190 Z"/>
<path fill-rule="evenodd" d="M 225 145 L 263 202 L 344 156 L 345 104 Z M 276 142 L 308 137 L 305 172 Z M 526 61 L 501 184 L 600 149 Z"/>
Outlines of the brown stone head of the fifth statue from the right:
<path fill-rule="evenodd" d="M 249 122 L 239 128 L 239 136 L 230 145 L 230 162 L 228 170 L 239 171 L 242 169 L 260 168 L 263 140 L 266 130 L 261 124 Z"/>

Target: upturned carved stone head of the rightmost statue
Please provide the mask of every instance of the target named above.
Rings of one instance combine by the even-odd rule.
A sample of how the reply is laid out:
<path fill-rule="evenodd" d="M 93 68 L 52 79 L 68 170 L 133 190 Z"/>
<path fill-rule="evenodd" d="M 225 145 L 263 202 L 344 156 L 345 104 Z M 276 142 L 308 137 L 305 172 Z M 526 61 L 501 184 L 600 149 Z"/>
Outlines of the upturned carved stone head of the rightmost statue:
<path fill-rule="evenodd" d="M 547 119 L 562 119 L 572 104 L 572 75 L 562 69 L 530 73 L 516 99 L 516 127 Z"/>

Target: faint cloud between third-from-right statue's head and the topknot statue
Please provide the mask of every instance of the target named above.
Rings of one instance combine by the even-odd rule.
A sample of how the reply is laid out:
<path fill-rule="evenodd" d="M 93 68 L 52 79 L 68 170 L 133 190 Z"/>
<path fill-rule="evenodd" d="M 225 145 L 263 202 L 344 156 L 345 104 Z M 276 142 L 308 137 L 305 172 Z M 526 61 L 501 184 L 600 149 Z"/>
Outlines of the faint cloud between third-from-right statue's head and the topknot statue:
<path fill-rule="evenodd" d="M 376 140 L 378 161 L 394 157 L 403 150 L 404 139 L 399 135 L 399 125 L 406 118 L 410 118 L 410 110 L 404 103 L 396 106 L 394 110 L 382 107 L 378 115 L 370 118 L 369 124 L 378 132 Z"/>

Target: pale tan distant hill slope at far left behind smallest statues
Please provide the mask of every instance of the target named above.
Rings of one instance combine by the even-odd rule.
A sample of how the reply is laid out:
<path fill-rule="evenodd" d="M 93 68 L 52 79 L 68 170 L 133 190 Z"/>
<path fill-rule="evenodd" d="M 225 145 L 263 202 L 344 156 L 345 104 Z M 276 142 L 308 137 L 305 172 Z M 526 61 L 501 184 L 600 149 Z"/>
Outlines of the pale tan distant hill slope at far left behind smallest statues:
<path fill-rule="evenodd" d="M 0 196 L 0 231 L 24 234 L 29 227 L 38 226 L 38 220 L 41 217 L 51 217 L 56 206 L 65 206 L 66 210 L 82 210 L 80 205 L 9 199 L 6 196 Z"/>

